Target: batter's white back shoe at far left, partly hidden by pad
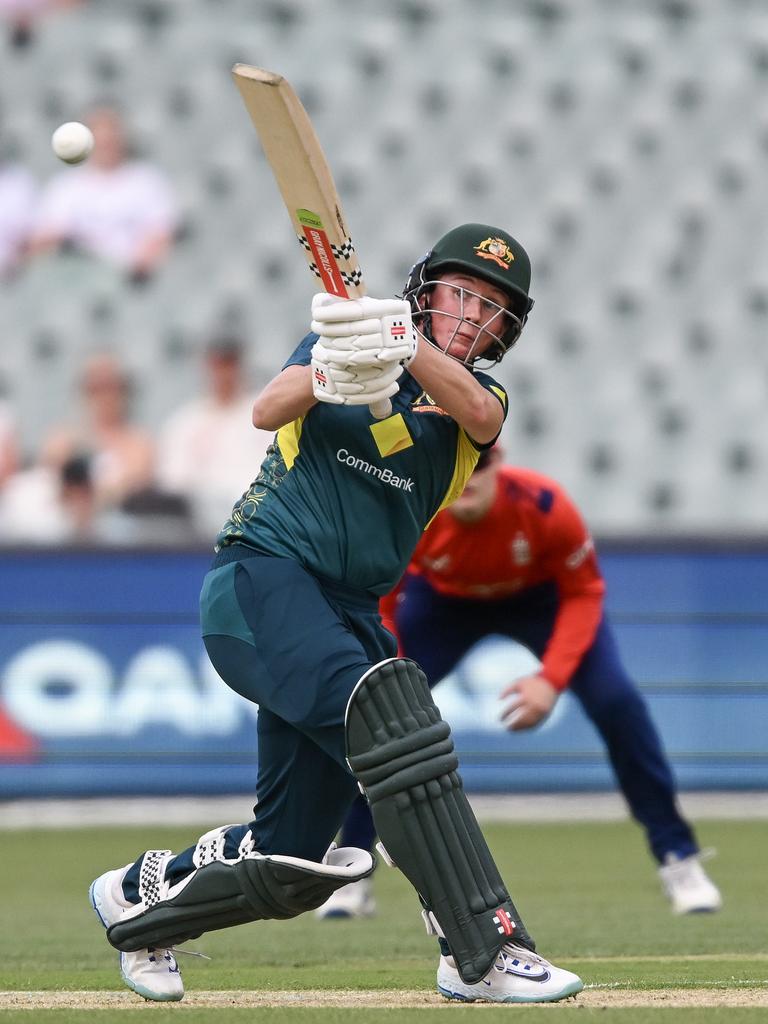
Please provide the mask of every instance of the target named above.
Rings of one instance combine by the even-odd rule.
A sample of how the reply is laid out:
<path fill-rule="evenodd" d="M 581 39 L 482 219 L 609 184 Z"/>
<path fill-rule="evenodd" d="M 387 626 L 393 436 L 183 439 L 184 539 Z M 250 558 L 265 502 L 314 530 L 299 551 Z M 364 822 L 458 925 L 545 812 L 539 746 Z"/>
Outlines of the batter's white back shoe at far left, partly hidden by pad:
<path fill-rule="evenodd" d="M 122 881 L 130 867 L 105 871 L 91 884 L 88 896 L 98 920 L 109 928 L 123 913 Z M 184 994 L 184 983 L 172 949 L 139 949 L 120 954 L 120 974 L 134 992 L 159 1002 L 175 1001 Z"/>

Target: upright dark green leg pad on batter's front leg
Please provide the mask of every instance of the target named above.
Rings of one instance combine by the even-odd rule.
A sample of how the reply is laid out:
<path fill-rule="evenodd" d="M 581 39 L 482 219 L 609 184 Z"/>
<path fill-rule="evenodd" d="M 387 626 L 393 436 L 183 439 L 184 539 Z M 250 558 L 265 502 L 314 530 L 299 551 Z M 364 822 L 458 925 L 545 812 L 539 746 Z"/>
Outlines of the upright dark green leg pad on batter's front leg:
<path fill-rule="evenodd" d="M 534 943 L 469 806 L 451 728 L 408 658 L 374 666 L 346 714 L 347 761 L 387 853 L 431 911 L 467 984 L 501 947 Z"/>

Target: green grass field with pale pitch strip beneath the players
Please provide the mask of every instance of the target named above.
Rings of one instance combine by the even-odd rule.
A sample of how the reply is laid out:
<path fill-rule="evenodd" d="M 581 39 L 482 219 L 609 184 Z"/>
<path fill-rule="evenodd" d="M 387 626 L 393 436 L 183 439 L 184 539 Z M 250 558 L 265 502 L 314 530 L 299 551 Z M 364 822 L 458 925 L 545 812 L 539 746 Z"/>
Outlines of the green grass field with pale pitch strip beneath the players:
<path fill-rule="evenodd" d="M 424 1014 L 464 1018 L 480 1013 L 496 1020 L 510 1013 L 549 1012 L 581 1021 L 597 1015 L 606 1020 L 608 1014 L 623 1024 L 662 1024 L 682 1015 L 692 1024 L 720 1021 L 726 1014 L 729 1021 L 757 1022 L 768 1014 L 762 821 L 699 825 L 702 845 L 719 851 L 710 868 L 725 907 L 718 914 L 686 918 L 670 912 L 642 836 L 632 823 L 486 826 L 540 951 L 575 970 L 588 986 L 575 1002 L 489 1007 L 436 1000 L 434 940 L 423 930 L 404 879 L 382 865 L 376 873 L 379 913 L 373 921 L 319 922 L 306 914 L 209 934 L 189 947 L 206 952 L 210 962 L 181 957 L 185 1000 L 148 1005 L 121 986 L 117 954 L 88 905 L 88 885 L 144 848 L 179 849 L 200 830 L 3 834 L 3 1019 L 100 1024 L 141 1010 L 162 1021 L 181 1013 L 188 1022 L 228 1024 L 269 1015 L 276 1024 L 351 1024 L 410 1022 Z M 109 993 L 118 991 L 115 1006 L 105 1005 Z M 25 1000 L 11 992 L 46 994 Z M 78 997 L 65 997 L 65 992 L 103 992 L 104 998 L 84 994 L 79 1006 Z M 269 1005 L 252 1006 L 241 1005 L 238 993 L 244 999 L 251 993 L 256 1001 L 266 998 L 263 993 L 286 994 Z M 338 999 L 334 993 L 341 993 Z M 67 1008 L 47 1009 L 56 998 L 65 998 Z M 209 1005 L 203 1005 L 205 999 Z M 318 1000 L 330 1005 L 317 1006 Z M 15 1009 L 16 1004 L 27 1009 Z"/>

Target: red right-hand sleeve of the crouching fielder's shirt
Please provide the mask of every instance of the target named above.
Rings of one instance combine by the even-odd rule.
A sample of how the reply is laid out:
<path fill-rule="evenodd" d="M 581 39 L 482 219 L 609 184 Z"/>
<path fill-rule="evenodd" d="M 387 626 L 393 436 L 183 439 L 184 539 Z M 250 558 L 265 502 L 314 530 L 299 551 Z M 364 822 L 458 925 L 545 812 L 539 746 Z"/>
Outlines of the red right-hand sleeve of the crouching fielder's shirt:
<path fill-rule="evenodd" d="M 562 490 L 557 494 L 553 513 L 550 560 L 559 606 L 542 670 L 554 686 L 564 689 L 595 639 L 603 613 L 605 583 L 589 530 Z"/>

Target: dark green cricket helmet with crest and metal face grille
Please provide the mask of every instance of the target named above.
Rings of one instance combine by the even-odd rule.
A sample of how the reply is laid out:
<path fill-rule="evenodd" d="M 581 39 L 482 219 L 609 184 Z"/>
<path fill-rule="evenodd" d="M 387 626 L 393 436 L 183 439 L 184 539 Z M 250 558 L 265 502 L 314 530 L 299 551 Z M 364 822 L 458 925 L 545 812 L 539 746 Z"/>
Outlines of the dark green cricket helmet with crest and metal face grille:
<path fill-rule="evenodd" d="M 481 357 L 498 362 L 520 336 L 534 300 L 530 288 L 530 260 L 519 242 L 507 231 L 490 224 L 462 224 L 444 234 L 409 274 L 403 298 L 409 299 L 414 311 L 414 324 L 425 339 L 434 344 L 431 317 L 436 311 L 430 308 L 429 293 L 434 282 L 451 270 L 464 271 L 501 289 L 509 298 L 508 308 L 494 313 L 489 322 L 497 325 L 485 329 L 494 342 Z M 462 308 L 464 296 L 473 295 L 470 289 L 460 289 Z M 501 317 L 501 319 L 500 319 Z M 463 316 L 456 317 L 459 330 Z M 451 354 L 451 342 L 444 351 Z M 474 362 L 471 350 L 462 359 Z"/>

